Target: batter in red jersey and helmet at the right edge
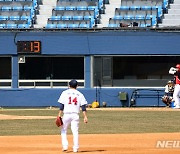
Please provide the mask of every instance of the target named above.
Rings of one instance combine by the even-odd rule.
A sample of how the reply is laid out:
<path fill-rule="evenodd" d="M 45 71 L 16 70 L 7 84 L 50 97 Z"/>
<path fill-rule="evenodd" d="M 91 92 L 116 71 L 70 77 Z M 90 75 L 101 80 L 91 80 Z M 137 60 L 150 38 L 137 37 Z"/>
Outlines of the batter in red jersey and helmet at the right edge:
<path fill-rule="evenodd" d="M 173 93 L 173 99 L 174 99 L 174 108 L 179 109 L 180 108 L 180 64 L 176 65 L 176 68 L 171 67 L 169 70 L 169 74 L 173 74 L 175 78 L 175 88 Z"/>

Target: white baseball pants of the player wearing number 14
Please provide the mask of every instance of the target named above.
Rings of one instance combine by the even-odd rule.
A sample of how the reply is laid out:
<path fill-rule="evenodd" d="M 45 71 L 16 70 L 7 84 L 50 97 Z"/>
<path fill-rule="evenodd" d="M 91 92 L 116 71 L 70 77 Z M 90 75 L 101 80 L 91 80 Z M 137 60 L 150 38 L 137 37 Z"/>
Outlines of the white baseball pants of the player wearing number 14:
<path fill-rule="evenodd" d="M 73 134 L 73 151 L 79 148 L 79 114 L 69 113 L 63 115 L 63 126 L 61 129 L 61 140 L 63 149 L 68 149 L 67 129 L 71 125 Z"/>

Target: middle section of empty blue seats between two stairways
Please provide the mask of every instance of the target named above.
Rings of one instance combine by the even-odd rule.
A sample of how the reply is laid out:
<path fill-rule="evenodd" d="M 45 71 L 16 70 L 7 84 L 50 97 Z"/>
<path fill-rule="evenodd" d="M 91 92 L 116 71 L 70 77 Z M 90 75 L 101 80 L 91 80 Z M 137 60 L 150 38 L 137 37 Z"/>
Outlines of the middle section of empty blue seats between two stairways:
<path fill-rule="evenodd" d="M 58 0 L 46 28 L 93 28 L 103 8 L 103 0 Z"/>

